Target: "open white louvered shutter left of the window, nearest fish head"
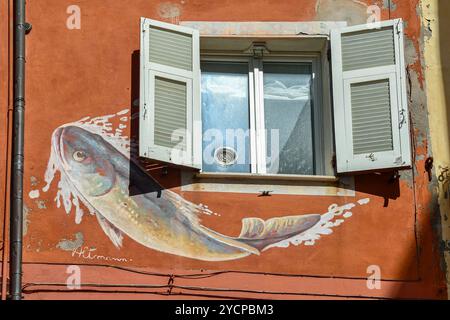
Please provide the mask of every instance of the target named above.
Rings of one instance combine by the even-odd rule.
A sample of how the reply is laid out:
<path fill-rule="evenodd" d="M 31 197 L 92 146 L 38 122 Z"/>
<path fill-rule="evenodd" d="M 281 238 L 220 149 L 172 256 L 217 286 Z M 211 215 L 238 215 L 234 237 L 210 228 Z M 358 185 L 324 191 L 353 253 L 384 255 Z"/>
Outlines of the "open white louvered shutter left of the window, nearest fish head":
<path fill-rule="evenodd" d="M 141 157 L 200 168 L 199 50 L 197 30 L 141 18 Z"/>

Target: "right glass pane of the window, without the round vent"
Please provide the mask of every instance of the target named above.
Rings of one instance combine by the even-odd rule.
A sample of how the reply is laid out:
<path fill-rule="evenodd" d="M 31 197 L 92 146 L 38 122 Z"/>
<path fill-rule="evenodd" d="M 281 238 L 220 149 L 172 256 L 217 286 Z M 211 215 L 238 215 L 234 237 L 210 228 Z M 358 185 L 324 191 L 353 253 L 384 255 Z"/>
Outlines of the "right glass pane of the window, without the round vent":
<path fill-rule="evenodd" d="M 312 175 L 312 64 L 264 63 L 267 173 Z"/>

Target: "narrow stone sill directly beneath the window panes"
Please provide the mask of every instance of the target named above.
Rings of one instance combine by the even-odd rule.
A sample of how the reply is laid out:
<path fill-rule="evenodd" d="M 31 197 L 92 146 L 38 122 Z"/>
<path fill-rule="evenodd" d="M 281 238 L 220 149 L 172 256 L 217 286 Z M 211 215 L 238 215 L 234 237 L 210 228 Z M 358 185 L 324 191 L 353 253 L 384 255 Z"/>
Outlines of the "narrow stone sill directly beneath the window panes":
<path fill-rule="evenodd" d="M 311 182 L 337 182 L 335 176 L 312 176 L 293 174 L 257 174 L 257 173 L 221 173 L 201 172 L 195 175 L 199 179 L 236 179 L 236 180 L 271 180 L 271 181 L 311 181 Z"/>

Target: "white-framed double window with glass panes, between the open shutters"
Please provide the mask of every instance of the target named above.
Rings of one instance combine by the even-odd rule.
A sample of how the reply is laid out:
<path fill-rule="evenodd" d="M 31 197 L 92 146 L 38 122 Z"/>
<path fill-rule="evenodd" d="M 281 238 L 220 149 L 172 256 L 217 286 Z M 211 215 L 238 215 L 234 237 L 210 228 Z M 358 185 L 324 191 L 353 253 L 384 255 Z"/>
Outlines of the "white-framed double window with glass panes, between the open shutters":
<path fill-rule="evenodd" d="M 203 57 L 203 171 L 322 174 L 316 58 Z M 321 114 L 318 110 L 316 114 Z M 301 143 L 299 143 L 301 141 Z"/>

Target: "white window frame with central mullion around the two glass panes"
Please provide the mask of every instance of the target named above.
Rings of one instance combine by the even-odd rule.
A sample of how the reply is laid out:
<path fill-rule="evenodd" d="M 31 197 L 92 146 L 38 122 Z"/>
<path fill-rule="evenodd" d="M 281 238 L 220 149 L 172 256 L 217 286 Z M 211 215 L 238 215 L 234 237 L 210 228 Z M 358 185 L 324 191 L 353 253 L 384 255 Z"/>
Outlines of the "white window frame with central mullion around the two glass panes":
<path fill-rule="evenodd" d="M 263 58 L 257 59 L 252 56 L 235 56 L 227 55 L 226 52 L 218 55 L 201 55 L 201 62 L 246 62 L 248 63 L 249 72 L 249 127 L 250 127 L 250 174 L 256 174 L 260 176 L 283 176 L 283 174 L 270 174 L 267 173 L 266 168 L 266 134 L 265 134 L 265 121 L 264 121 L 264 62 L 296 62 L 296 63 L 311 63 L 312 77 L 313 77 L 313 149 L 314 149 L 314 168 L 315 174 L 313 176 L 323 176 L 329 173 L 332 168 L 325 168 L 325 156 L 331 155 L 332 151 L 326 152 L 324 150 L 324 139 L 326 136 L 332 137 L 332 129 L 325 128 L 325 123 L 331 123 L 331 113 L 324 110 L 324 96 L 329 93 L 322 91 L 323 87 L 323 74 L 320 53 L 292 53 L 292 54 L 270 54 Z M 329 115 L 329 119 L 325 118 Z M 330 131 L 327 134 L 325 131 Z M 328 146 L 332 146 L 332 142 L 327 141 Z M 203 153 L 202 153 L 203 154 Z M 331 166 L 331 159 L 330 159 Z M 214 172 L 208 172 L 207 174 L 215 174 Z M 219 174 L 219 173 L 218 173 Z M 232 175 L 233 173 L 226 173 Z M 292 174 L 289 176 L 306 176 L 301 174 Z"/>

